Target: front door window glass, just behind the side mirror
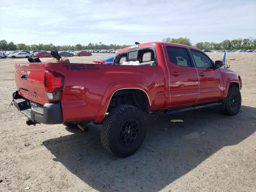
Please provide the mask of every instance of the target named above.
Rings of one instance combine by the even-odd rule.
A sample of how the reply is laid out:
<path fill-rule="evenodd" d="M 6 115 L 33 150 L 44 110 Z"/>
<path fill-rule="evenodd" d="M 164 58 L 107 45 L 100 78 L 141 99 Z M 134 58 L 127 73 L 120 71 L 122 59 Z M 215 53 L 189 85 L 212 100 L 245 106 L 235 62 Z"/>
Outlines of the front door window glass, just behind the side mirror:
<path fill-rule="evenodd" d="M 199 51 L 191 50 L 190 52 L 194 58 L 196 67 L 198 68 L 212 68 L 212 62 L 211 60 L 204 54 L 202 54 Z"/>

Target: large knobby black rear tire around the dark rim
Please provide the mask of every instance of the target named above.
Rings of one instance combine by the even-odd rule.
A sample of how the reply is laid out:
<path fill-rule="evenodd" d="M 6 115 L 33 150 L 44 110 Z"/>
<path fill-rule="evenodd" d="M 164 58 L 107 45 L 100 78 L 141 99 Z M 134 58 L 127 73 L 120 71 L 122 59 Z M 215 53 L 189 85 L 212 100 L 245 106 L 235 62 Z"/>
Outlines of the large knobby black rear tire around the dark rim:
<path fill-rule="evenodd" d="M 136 139 L 124 146 L 120 141 L 120 132 L 124 123 L 130 119 L 138 122 L 139 131 Z M 127 157 L 134 154 L 143 143 L 146 135 L 146 123 L 144 113 L 132 105 L 120 105 L 109 112 L 103 121 L 100 138 L 104 148 L 115 156 Z"/>

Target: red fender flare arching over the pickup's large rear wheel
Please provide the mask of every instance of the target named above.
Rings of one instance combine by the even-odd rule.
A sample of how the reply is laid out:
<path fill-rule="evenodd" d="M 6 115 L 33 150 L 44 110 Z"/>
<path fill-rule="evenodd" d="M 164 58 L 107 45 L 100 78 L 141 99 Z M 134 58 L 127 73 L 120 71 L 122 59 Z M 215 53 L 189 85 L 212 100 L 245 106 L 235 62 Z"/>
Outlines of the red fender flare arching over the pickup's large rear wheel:
<path fill-rule="evenodd" d="M 102 102 L 100 104 L 100 108 L 98 110 L 98 114 L 97 114 L 96 119 L 95 119 L 94 122 L 102 122 L 103 121 L 112 96 L 114 95 L 115 92 L 117 92 L 118 90 L 122 90 L 122 89 L 139 89 L 139 90 L 142 90 L 148 98 L 149 106 L 152 105 L 152 100 L 150 99 L 151 98 L 150 93 L 148 92 L 148 89 L 145 86 L 143 86 L 142 84 L 117 84 L 117 83 L 110 84 L 107 87 L 107 89 L 104 93 L 104 96 L 102 98 Z"/>

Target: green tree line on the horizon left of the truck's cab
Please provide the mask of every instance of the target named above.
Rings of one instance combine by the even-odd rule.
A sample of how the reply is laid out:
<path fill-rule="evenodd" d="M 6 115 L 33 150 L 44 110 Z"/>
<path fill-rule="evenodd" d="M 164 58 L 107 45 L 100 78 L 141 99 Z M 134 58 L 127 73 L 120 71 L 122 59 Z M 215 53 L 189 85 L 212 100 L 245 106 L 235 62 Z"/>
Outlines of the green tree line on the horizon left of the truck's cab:
<path fill-rule="evenodd" d="M 110 44 L 110 45 L 105 45 L 100 42 L 99 44 L 94 44 L 94 43 L 89 43 L 88 45 L 81 45 L 81 44 L 76 44 L 76 45 L 53 45 L 52 43 L 50 44 L 32 44 L 32 45 L 26 45 L 24 43 L 18 43 L 14 44 L 14 42 L 7 42 L 6 40 L 0 40 L 0 50 L 44 50 L 44 51 L 50 51 L 50 50 L 62 50 L 62 51 L 67 51 L 67 50 L 74 50 L 74 51 L 79 51 L 79 50 L 87 50 L 87 49 L 122 49 L 125 47 L 128 47 L 129 45 L 116 45 L 116 44 Z"/>

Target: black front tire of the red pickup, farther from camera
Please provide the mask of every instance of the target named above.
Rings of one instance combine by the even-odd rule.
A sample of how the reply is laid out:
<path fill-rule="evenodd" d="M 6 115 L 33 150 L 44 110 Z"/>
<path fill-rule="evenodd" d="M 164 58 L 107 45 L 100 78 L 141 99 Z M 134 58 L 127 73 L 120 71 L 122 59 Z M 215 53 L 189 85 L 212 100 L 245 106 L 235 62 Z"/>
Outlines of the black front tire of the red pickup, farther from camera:
<path fill-rule="evenodd" d="M 234 97 L 237 98 L 237 104 L 234 105 Z M 241 108 L 242 97 L 238 87 L 232 86 L 228 89 L 228 95 L 226 97 L 226 106 L 222 110 L 222 113 L 233 116 L 238 114 Z"/>

